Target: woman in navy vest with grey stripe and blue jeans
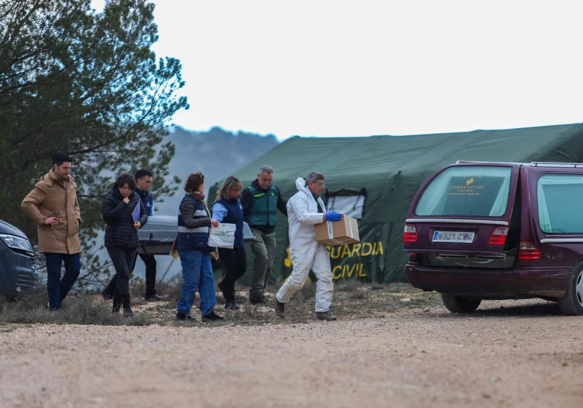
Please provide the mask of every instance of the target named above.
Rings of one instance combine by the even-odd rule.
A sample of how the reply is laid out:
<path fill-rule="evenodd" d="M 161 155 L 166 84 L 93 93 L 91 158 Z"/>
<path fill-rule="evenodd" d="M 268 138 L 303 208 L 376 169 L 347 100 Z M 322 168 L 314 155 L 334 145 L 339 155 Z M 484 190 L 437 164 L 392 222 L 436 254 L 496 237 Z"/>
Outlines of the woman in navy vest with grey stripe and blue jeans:
<path fill-rule="evenodd" d="M 215 314 L 213 307 L 217 303 L 215 279 L 210 264 L 209 231 L 219 225 L 210 218 L 205 204 L 205 176 L 192 173 L 184 183 L 186 193 L 178 210 L 178 236 L 176 245 L 182 264 L 182 293 L 178 301 L 176 319 L 193 320 L 190 315 L 194 296 L 198 288 L 201 295 L 201 314 L 203 322 L 224 320 Z"/>

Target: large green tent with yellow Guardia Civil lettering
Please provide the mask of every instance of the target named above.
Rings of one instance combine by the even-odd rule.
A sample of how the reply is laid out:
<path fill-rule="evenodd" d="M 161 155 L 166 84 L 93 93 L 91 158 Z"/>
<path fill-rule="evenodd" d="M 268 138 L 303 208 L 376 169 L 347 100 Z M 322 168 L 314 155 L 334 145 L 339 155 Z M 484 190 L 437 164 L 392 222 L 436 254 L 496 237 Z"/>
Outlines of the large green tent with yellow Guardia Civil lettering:
<path fill-rule="evenodd" d="M 287 139 L 238 170 L 248 187 L 259 168 L 274 168 L 274 184 L 287 199 L 295 194 L 297 177 L 318 171 L 326 177 L 326 194 L 366 190 L 359 220 L 360 244 L 329 248 L 335 279 L 371 282 L 406 281 L 408 255 L 403 252 L 403 226 L 410 202 L 429 175 L 457 160 L 561 161 L 581 163 L 583 124 L 536 128 L 477 130 L 414 136 Z M 210 188 L 209 202 L 222 181 Z M 326 201 L 326 196 L 323 197 Z M 278 215 L 278 249 L 268 282 L 291 272 L 287 220 Z M 248 268 L 252 254 L 248 252 Z M 251 269 L 248 269 L 248 281 Z"/>

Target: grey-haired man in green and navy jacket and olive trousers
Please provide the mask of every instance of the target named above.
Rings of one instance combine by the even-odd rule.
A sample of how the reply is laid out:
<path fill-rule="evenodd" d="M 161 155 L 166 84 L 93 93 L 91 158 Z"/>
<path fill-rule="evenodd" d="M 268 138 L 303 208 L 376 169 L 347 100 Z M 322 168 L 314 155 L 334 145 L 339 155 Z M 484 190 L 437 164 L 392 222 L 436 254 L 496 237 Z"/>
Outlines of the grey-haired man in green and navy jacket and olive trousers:
<path fill-rule="evenodd" d="M 265 301 L 265 284 L 271 273 L 276 248 L 277 210 L 287 217 L 286 202 L 279 188 L 272 184 L 273 168 L 262 166 L 251 187 L 245 188 L 241 193 L 243 216 L 255 237 L 251 244 L 254 261 L 249 300 L 252 304 Z"/>

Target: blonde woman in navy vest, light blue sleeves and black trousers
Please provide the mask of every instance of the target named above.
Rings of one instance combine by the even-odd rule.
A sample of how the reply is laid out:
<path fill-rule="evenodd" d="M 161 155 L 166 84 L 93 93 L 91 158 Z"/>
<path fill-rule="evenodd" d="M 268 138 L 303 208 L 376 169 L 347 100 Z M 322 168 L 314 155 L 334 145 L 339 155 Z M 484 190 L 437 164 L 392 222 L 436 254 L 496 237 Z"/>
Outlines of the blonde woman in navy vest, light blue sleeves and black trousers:
<path fill-rule="evenodd" d="M 213 205 L 213 219 L 219 223 L 235 224 L 235 241 L 233 249 L 219 248 L 219 259 L 222 261 L 225 273 L 218 284 L 223 292 L 226 309 L 237 310 L 235 303 L 235 282 L 247 272 L 247 255 L 243 246 L 243 206 L 239 200 L 241 181 L 230 175 L 217 192 Z"/>

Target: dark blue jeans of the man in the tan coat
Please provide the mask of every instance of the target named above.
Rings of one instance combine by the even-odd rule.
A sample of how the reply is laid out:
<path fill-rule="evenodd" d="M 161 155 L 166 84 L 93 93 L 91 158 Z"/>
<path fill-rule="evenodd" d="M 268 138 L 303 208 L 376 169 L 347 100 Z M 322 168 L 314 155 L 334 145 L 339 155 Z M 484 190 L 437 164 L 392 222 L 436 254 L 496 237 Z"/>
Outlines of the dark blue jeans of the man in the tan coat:
<path fill-rule="evenodd" d="M 79 277 L 79 254 L 44 254 L 47 260 L 48 308 L 60 309 L 63 300 Z M 61 279 L 61 266 L 65 263 L 65 275 Z"/>

